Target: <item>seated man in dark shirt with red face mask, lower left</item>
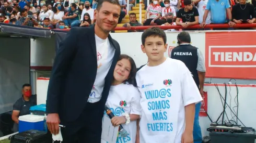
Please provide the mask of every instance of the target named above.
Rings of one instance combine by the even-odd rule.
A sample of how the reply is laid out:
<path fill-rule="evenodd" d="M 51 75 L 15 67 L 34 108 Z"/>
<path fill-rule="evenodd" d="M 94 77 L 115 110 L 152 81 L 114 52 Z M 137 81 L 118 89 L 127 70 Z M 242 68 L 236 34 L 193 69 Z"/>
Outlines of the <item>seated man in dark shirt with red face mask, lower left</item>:
<path fill-rule="evenodd" d="M 11 115 L 11 119 L 14 121 L 14 133 L 18 132 L 19 116 L 30 114 L 30 107 L 37 105 L 37 96 L 32 95 L 30 84 L 24 84 L 21 92 L 22 96 L 14 103 Z"/>

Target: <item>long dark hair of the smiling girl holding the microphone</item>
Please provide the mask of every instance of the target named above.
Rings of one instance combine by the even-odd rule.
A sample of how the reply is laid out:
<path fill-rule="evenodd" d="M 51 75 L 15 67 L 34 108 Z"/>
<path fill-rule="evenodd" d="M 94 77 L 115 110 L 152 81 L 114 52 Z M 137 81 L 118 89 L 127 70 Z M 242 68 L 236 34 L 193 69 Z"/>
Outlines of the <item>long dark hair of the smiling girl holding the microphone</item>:
<path fill-rule="evenodd" d="M 118 61 L 120 61 L 122 59 L 129 60 L 130 64 L 131 64 L 131 71 L 130 71 L 129 78 L 127 80 L 125 80 L 124 83 L 128 82 L 127 84 L 132 84 L 134 87 L 138 87 L 137 82 L 136 82 L 137 67 L 136 67 L 136 64 L 135 64 L 133 58 L 128 56 L 128 55 L 122 54 L 122 55 L 119 56 Z"/>

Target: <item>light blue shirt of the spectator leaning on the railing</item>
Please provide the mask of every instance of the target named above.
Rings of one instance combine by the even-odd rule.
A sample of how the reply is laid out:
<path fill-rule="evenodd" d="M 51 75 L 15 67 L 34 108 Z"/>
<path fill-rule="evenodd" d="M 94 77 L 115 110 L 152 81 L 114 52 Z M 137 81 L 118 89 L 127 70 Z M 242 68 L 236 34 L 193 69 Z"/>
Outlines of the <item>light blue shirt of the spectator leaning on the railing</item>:
<path fill-rule="evenodd" d="M 211 21 L 215 24 L 227 22 L 227 8 L 230 8 L 228 0 L 209 0 L 206 5 L 206 9 L 211 11 Z"/>

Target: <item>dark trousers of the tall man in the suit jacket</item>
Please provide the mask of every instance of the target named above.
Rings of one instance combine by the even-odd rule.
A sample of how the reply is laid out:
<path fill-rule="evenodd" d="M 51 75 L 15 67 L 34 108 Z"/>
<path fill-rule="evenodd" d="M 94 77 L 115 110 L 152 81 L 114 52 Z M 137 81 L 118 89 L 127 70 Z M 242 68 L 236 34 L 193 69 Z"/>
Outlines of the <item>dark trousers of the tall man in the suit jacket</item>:
<path fill-rule="evenodd" d="M 66 126 L 61 128 L 63 143 L 100 143 L 103 117 L 103 109 L 100 110 L 100 106 L 100 101 L 87 102 L 85 110 L 76 121 L 63 123 Z"/>

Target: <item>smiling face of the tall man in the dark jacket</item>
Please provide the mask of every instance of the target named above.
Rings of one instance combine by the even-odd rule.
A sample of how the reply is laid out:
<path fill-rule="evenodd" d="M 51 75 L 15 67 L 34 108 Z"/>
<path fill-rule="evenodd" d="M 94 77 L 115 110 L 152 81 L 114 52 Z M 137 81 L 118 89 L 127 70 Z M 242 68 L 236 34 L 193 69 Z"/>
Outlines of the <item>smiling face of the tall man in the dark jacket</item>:
<path fill-rule="evenodd" d="M 99 10 L 95 10 L 94 19 L 96 24 L 104 32 L 109 33 L 117 27 L 121 7 L 108 2 L 103 2 Z"/>

